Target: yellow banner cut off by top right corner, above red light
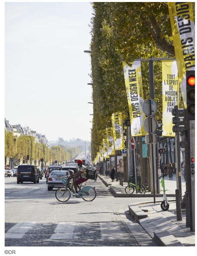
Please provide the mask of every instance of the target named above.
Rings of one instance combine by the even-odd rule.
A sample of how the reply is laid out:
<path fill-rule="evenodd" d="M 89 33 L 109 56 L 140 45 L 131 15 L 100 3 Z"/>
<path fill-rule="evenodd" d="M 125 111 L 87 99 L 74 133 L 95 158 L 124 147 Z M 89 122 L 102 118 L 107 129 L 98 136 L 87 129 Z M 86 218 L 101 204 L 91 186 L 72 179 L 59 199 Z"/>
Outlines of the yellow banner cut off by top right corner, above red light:
<path fill-rule="evenodd" d="M 174 51 L 184 108 L 186 71 L 195 70 L 195 2 L 168 2 Z"/>

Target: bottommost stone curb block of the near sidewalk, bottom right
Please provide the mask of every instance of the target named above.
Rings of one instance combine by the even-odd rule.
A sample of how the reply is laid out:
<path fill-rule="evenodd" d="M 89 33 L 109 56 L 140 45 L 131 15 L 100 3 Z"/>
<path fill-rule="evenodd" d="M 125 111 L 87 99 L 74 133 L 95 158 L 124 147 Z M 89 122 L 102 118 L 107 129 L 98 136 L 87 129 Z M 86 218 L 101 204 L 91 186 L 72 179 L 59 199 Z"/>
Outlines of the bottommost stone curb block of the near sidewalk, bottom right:
<path fill-rule="evenodd" d="M 184 246 L 168 231 L 156 231 L 153 233 L 154 240 L 158 244 L 158 246 Z"/>

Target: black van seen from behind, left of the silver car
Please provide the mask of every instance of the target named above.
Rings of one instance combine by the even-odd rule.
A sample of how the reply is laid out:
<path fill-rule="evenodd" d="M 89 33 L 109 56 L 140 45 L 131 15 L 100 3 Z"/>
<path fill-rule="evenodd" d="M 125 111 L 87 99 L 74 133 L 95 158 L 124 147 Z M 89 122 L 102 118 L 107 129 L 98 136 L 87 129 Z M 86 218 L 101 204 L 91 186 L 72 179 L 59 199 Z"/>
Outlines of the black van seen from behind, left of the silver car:
<path fill-rule="evenodd" d="M 39 183 L 39 174 L 35 165 L 19 165 L 17 170 L 17 184 L 23 181 Z"/>

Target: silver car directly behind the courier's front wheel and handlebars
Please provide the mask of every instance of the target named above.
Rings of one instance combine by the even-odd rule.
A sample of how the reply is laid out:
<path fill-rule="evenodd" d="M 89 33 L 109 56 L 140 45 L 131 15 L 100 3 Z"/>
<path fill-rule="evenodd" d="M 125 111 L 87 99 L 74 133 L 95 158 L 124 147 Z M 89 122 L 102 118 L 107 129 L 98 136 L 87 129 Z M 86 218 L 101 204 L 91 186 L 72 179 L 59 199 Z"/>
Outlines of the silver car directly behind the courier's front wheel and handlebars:
<path fill-rule="evenodd" d="M 48 190 L 52 190 L 54 187 L 62 187 L 62 177 L 70 176 L 69 171 L 52 171 L 48 177 Z M 70 180 L 71 186 L 73 185 L 73 179 Z"/>

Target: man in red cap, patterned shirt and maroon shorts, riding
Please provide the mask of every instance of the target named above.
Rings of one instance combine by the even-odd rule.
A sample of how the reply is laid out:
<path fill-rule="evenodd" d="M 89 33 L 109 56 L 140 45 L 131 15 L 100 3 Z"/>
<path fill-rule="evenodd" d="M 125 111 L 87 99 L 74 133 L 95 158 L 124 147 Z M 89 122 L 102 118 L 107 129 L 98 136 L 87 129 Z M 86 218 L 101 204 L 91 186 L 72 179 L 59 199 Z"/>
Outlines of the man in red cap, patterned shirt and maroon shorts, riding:
<path fill-rule="evenodd" d="M 74 174 L 70 177 L 72 177 L 72 178 L 76 178 L 76 177 L 79 177 L 79 176 L 81 176 L 81 177 L 79 179 L 73 181 L 73 185 L 74 185 L 74 188 L 75 188 L 75 191 L 76 191 L 76 193 L 74 193 L 73 196 L 78 196 L 77 187 L 80 189 L 79 184 L 88 180 L 86 178 L 86 174 L 87 174 L 86 166 L 83 165 L 83 161 L 81 159 L 79 159 L 76 163 L 78 163 L 79 172 L 77 172 L 76 174 Z"/>

